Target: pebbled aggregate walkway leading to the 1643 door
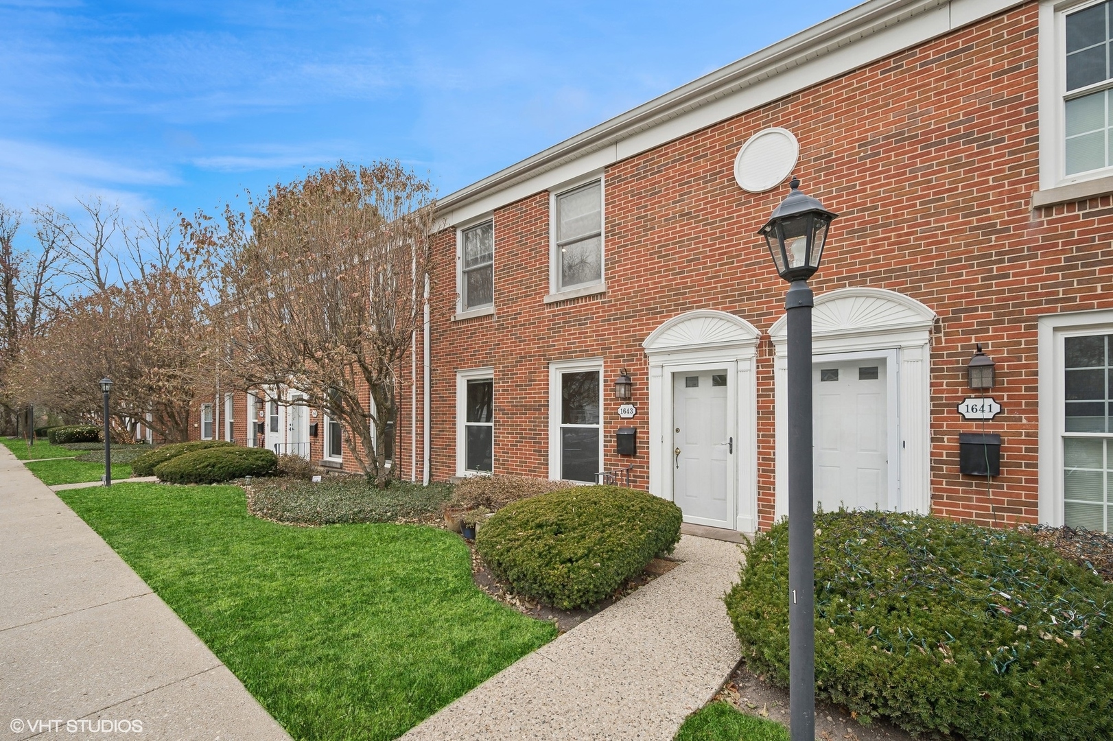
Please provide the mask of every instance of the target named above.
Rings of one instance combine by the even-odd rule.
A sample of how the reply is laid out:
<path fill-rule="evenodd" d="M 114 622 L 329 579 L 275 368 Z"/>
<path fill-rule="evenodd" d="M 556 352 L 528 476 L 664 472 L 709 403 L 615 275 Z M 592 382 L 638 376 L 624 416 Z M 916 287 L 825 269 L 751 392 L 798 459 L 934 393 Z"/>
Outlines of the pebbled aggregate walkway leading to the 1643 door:
<path fill-rule="evenodd" d="M 684 535 L 684 563 L 508 666 L 407 741 L 670 741 L 740 659 L 722 595 L 739 546 Z"/>

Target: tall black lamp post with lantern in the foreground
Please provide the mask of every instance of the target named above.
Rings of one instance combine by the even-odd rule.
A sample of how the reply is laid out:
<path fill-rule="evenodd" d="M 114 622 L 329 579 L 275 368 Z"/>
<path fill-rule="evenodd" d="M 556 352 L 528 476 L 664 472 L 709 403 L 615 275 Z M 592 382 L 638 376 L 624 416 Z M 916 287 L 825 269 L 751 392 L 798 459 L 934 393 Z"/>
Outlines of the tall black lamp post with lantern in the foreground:
<path fill-rule="evenodd" d="M 788 317 L 788 704 L 792 741 L 816 738 L 815 532 L 811 482 L 811 307 L 808 278 L 819 269 L 836 217 L 798 190 L 758 233 L 789 281 Z"/>

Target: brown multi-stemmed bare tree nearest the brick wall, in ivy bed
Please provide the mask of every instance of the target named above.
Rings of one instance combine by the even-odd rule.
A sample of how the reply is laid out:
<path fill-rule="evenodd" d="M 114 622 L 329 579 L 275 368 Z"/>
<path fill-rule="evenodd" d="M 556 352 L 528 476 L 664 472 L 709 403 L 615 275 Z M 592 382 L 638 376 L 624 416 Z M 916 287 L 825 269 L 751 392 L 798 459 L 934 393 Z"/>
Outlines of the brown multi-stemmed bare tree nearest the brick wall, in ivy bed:
<path fill-rule="evenodd" d="M 226 258 L 214 326 L 244 388 L 289 387 L 344 428 L 345 448 L 385 486 L 395 369 L 412 349 L 431 274 L 433 191 L 398 162 L 341 162 L 275 186 L 245 218 L 191 237 Z M 370 393 L 368 393 L 370 389 Z"/>

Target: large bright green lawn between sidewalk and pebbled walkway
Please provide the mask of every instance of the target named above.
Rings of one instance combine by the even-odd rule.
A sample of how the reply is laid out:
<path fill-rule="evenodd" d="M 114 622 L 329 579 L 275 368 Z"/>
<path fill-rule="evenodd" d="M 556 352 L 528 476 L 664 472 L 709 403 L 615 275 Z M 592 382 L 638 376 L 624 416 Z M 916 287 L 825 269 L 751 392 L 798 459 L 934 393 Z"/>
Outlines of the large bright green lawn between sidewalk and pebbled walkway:
<path fill-rule="evenodd" d="M 235 486 L 60 496 L 295 739 L 394 739 L 555 636 L 476 589 L 433 527 L 296 527 Z"/>

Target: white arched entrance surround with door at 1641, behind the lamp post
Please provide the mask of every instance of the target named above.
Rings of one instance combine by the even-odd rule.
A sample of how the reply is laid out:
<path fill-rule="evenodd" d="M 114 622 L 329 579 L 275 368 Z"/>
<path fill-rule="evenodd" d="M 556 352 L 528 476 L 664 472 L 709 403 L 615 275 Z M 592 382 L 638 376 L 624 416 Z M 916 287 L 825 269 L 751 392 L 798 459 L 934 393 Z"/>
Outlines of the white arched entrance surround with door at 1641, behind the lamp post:
<path fill-rule="evenodd" d="M 816 296 L 811 315 L 812 466 L 825 511 L 930 512 L 928 360 L 935 313 L 881 288 Z M 786 320 L 776 349 L 777 496 L 788 514 Z"/>

